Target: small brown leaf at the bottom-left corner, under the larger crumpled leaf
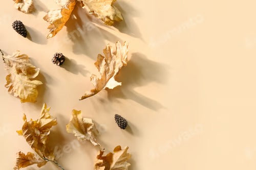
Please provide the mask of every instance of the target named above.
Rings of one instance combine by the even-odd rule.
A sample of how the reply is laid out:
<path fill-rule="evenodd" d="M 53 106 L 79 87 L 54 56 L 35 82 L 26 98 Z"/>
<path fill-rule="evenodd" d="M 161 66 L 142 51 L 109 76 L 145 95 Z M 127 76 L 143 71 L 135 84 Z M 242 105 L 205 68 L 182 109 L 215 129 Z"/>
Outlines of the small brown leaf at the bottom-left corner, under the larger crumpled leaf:
<path fill-rule="evenodd" d="M 47 161 L 41 158 L 36 158 L 35 155 L 31 152 L 28 152 L 27 155 L 25 155 L 23 152 L 18 152 L 14 169 L 18 170 L 33 164 L 37 164 L 37 167 L 41 167 L 44 166 L 46 163 Z"/>

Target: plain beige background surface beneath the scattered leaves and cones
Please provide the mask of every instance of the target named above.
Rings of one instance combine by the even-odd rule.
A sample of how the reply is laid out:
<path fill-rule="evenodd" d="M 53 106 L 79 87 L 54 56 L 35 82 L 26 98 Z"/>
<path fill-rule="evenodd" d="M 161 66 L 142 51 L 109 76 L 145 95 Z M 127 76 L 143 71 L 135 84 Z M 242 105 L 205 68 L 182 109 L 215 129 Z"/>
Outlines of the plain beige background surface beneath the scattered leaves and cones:
<path fill-rule="evenodd" d="M 107 151 L 130 147 L 129 169 L 256 168 L 255 1 L 119 0 L 125 22 L 116 28 L 78 6 L 67 27 L 49 40 L 42 17 L 58 6 L 34 3 L 37 11 L 30 15 L 16 11 L 11 0 L 0 7 L 0 47 L 5 54 L 28 54 L 44 82 L 36 104 L 20 104 L 4 87 L 0 64 L 1 169 L 12 169 L 16 152 L 32 151 L 15 131 L 23 113 L 37 118 L 44 102 L 58 120 L 51 138 L 66 170 L 93 169 L 97 153 L 90 143 L 72 144 L 76 140 L 65 130 L 72 109 L 95 120 Z M 25 23 L 31 39 L 12 30 L 15 19 Z M 130 61 L 119 75 L 123 86 L 78 101 L 92 87 L 97 54 L 116 40 L 130 42 Z M 69 58 L 63 67 L 51 63 L 55 52 Z M 116 113 L 130 128 L 118 129 Z M 49 163 L 41 169 L 58 168 Z"/>

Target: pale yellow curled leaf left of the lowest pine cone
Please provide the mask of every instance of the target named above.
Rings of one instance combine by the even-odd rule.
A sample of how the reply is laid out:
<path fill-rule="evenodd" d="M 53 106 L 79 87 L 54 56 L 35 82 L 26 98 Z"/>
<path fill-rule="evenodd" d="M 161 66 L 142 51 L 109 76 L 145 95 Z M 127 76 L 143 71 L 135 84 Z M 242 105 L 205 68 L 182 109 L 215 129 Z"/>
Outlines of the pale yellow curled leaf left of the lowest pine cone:
<path fill-rule="evenodd" d="M 95 135 L 98 134 L 93 120 L 91 118 L 82 117 L 81 111 L 73 110 L 70 122 L 66 126 L 68 133 L 73 133 L 78 140 L 89 140 L 93 145 L 101 145 L 96 141 Z"/>

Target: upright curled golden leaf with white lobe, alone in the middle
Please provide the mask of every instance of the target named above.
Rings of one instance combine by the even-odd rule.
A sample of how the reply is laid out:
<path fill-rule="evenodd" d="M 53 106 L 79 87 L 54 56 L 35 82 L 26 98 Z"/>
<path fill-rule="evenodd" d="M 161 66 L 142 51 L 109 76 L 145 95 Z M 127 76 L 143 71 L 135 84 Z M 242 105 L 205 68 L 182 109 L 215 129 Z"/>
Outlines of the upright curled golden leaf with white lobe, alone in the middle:
<path fill-rule="evenodd" d="M 100 92 L 102 89 L 113 89 L 122 85 L 122 83 L 115 80 L 115 77 L 118 74 L 119 69 L 127 64 L 128 44 L 124 42 L 122 45 L 117 41 L 116 49 L 113 49 L 108 44 L 103 50 L 103 53 L 105 56 L 99 54 L 97 61 L 94 63 L 100 72 L 101 78 L 98 78 L 94 74 L 91 76 L 91 82 L 94 85 L 94 89 L 90 92 L 86 92 L 80 100 L 89 98 Z"/>

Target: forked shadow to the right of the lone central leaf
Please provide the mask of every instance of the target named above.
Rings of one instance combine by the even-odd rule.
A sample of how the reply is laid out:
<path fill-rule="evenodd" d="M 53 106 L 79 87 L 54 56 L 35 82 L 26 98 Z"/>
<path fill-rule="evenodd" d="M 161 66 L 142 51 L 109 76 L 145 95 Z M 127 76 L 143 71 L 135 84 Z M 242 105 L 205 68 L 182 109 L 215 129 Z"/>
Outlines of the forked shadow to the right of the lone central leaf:
<path fill-rule="evenodd" d="M 130 99 L 144 107 L 157 111 L 164 108 L 162 104 L 156 100 L 150 99 L 135 88 L 146 86 L 149 83 L 157 82 L 166 84 L 166 76 L 168 74 L 167 66 L 155 61 L 148 60 L 146 56 L 135 53 L 132 54 L 131 60 L 127 66 L 119 71 L 116 78 L 118 82 L 122 82 L 122 86 L 118 86 L 113 90 L 107 89 L 108 99 L 110 101 L 117 101 L 117 99 Z"/>

